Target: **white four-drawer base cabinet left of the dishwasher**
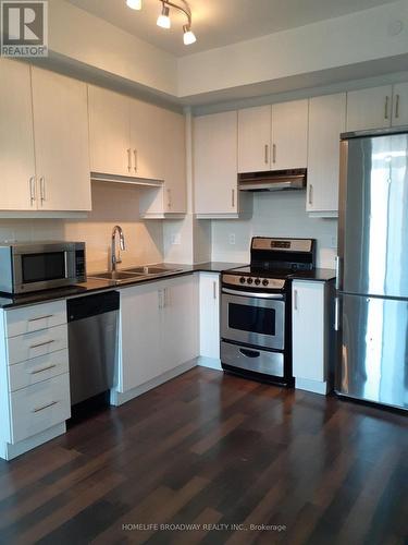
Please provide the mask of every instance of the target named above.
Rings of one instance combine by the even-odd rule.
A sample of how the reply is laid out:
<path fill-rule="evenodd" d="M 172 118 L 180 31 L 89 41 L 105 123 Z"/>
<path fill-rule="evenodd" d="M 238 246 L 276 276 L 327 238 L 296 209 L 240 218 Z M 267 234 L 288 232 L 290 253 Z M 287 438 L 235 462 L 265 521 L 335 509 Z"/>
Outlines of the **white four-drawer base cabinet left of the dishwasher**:
<path fill-rule="evenodd" d="M 71 416 L 65 301 L 1 311 L 0 330 L 0 458 L 10 460 Z"/>

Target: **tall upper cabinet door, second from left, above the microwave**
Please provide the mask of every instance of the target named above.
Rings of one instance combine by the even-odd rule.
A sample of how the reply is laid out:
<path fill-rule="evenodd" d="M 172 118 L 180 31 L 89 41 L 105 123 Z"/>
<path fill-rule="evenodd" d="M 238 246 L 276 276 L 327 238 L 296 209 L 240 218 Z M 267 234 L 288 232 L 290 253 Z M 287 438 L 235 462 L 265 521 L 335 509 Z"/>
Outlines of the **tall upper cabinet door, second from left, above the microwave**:
<path fill-rule="evenodd" d="M 90 210 L 86 84 L 32 68 L 41 210 Z"/>

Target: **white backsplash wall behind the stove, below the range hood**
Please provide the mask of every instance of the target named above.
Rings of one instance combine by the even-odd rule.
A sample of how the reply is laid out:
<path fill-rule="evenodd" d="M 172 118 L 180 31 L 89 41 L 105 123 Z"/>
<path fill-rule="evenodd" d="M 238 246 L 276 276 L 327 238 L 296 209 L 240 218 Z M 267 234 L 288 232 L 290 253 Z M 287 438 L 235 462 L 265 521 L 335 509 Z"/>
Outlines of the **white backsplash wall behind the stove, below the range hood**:
<path fill-rule="evenodd" d="M 318 267 L 334 268 L 337 220 L 310 218 L 305 206 L 304 191 L 255 194 L 252 219 L 212 221 L 212 261 L 248 263 L 251 237 L 299 237 L 317 239 Z"/>

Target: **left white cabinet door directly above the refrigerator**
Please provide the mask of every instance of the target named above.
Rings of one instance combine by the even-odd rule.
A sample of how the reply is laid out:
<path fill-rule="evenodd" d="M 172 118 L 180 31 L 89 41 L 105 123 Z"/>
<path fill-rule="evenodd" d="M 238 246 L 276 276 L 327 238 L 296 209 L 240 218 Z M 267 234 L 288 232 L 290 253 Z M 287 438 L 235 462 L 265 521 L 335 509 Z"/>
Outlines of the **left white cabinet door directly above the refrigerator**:
<path fill-rule="evenodd" d="M 392 86 L 347 93 L 347 131 L 391 126 Z"/>

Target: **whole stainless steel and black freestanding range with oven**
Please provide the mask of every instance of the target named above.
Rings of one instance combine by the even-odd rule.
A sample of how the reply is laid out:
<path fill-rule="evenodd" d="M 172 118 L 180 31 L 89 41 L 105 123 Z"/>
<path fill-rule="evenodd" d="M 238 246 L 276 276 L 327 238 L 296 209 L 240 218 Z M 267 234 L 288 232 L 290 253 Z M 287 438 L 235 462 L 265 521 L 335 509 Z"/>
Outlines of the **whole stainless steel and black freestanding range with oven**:
<path fill-rule="evenodd" d="M 221 362 L 225 371 L 292 386 L 290 283 L 314 268 L 313 239 L 251 241 L 250 265 L 222 274 Z"/>

